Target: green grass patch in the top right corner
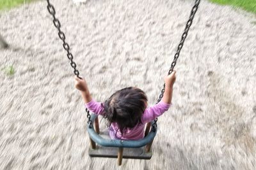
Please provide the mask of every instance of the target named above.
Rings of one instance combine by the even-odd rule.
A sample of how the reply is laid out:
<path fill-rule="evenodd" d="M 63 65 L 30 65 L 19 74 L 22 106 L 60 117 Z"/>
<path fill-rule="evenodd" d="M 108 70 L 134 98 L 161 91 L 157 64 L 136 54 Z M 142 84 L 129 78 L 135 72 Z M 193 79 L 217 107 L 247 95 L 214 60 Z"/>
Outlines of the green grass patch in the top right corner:
<path fill-rule="evenodd" d="M 232 5 L 256 14 L 256 0 L 210 0 L 212 3 Z"/>

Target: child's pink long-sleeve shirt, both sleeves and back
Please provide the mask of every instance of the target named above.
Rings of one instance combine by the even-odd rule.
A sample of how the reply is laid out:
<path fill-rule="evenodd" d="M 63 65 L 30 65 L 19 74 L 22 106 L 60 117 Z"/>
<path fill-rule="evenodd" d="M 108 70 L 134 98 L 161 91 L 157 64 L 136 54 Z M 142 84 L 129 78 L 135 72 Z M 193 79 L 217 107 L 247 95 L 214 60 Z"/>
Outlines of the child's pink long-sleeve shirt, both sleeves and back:
<path fill-rule="evenodd" d="M 97 115 L 104 115 L 104 104 L 95 102 L 93 99 L 89 103 L 85 104 L 88 110 L 92 111 Z M 142 124 L 138 124 L 133 128 L 128 128 L 122 136 L 121 132 L 118 130 L 118 125 L 113 122 L 109 127 L 109 136 L 111 139 L 129 139 L 129 140 L 138 140 L 144 138 L 144 129 L 147 122 L 151 122 L 155 118 L 161 116 L 164 111 L 167 111 L 170 108 L 171 104 L 164 103 L 160 101 L 159 103 L 151 106 L 145 110 L 141 117 Z"/>

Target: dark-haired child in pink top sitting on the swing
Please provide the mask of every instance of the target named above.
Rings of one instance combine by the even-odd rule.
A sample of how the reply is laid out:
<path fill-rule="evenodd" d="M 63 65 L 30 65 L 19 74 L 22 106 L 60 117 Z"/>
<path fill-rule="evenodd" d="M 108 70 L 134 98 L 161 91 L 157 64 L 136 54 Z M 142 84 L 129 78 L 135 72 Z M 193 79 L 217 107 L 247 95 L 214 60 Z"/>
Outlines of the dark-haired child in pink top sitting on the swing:
<path fill-rule="evenodd" d="M 118 90 L 105 103 L 98 103 L 92 99 L 85 80 L 75 77 L 75 86 L 80 90 L 86 108 L 108 120 L 111 139 L 138 140 L 144 138 L 145 124 L 170 108 L 175 73 L 173 71 L 164 78 L 165 91 L 162 100 L 148 108 L 147 96 L 136 87 Z"/>

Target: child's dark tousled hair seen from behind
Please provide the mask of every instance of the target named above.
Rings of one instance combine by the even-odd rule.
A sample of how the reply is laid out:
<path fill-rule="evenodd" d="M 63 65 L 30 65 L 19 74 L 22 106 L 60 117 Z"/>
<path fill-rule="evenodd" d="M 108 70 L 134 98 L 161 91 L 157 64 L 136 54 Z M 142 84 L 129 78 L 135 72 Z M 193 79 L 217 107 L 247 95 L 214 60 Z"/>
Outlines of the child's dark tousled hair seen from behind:
<path fill-rule="evenodd" d="M 104 104 L 108 127 L 113 122 L 123 135 L 127 128 L 141 124 L 141 116 L 147 108 L 147 96 L 136 87 L 127 87 L 115 92 Z"/>

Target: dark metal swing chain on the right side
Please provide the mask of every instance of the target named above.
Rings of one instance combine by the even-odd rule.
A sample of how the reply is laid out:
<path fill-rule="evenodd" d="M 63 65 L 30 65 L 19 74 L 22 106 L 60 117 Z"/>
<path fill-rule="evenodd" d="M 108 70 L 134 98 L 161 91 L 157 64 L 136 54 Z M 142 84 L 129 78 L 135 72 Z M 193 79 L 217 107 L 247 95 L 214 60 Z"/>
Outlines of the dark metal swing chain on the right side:
<path fill-rule="evenodd" d="M 170 67 L 170 69 L 168 71 L 168 75 L 170 75 L 173 72 L 173 68 L 176 65 L 177 59 L 179 58 L 180 50 L 183 47 L 184 41 L 185 41 L 185 39 L 188 36 L 188 31 L 189 31 L 189 28 L 190 28 L 190 26 L 191 26 L 191 24 L 193 22 L 193 18 L 195 17 L 195 13 L 196 13 L 196 11 L 198 9 L 199 3 L 200 3 L 200 0 L 196 0 L 195 4 L 194 4 L 194 6 L 193 6 L 193 8 L 191 10 L 191 13 L 190 13 L 190 16 L 189 16 L 189 20 L 188 20 L 188 22 L 186 24 L 186 27 L 184 29 L 184 32 L 183 32 L 183 34 L 181 36 L 180 43 L 179 43 L 178 48 L 177 48 L 177 52 L 174 55 L 173 62 L 172 62 L 171 67 Z M 163 85 L 163 89 L 161 90 L 161 94 L 159 95 L 159 98 L 157 100 L 157 103 L 159 103 L 161 101 L 161 99 L 163 98 L 163 96 L 164 96 L 164 89 L 165 89 L 165 83 Z M 154 123 L 153 123 L 152 126 L 153 126 L 153 130 L 155 131 L 156 127 L 157 127 L 157 118 L 154 120 Z"/>

